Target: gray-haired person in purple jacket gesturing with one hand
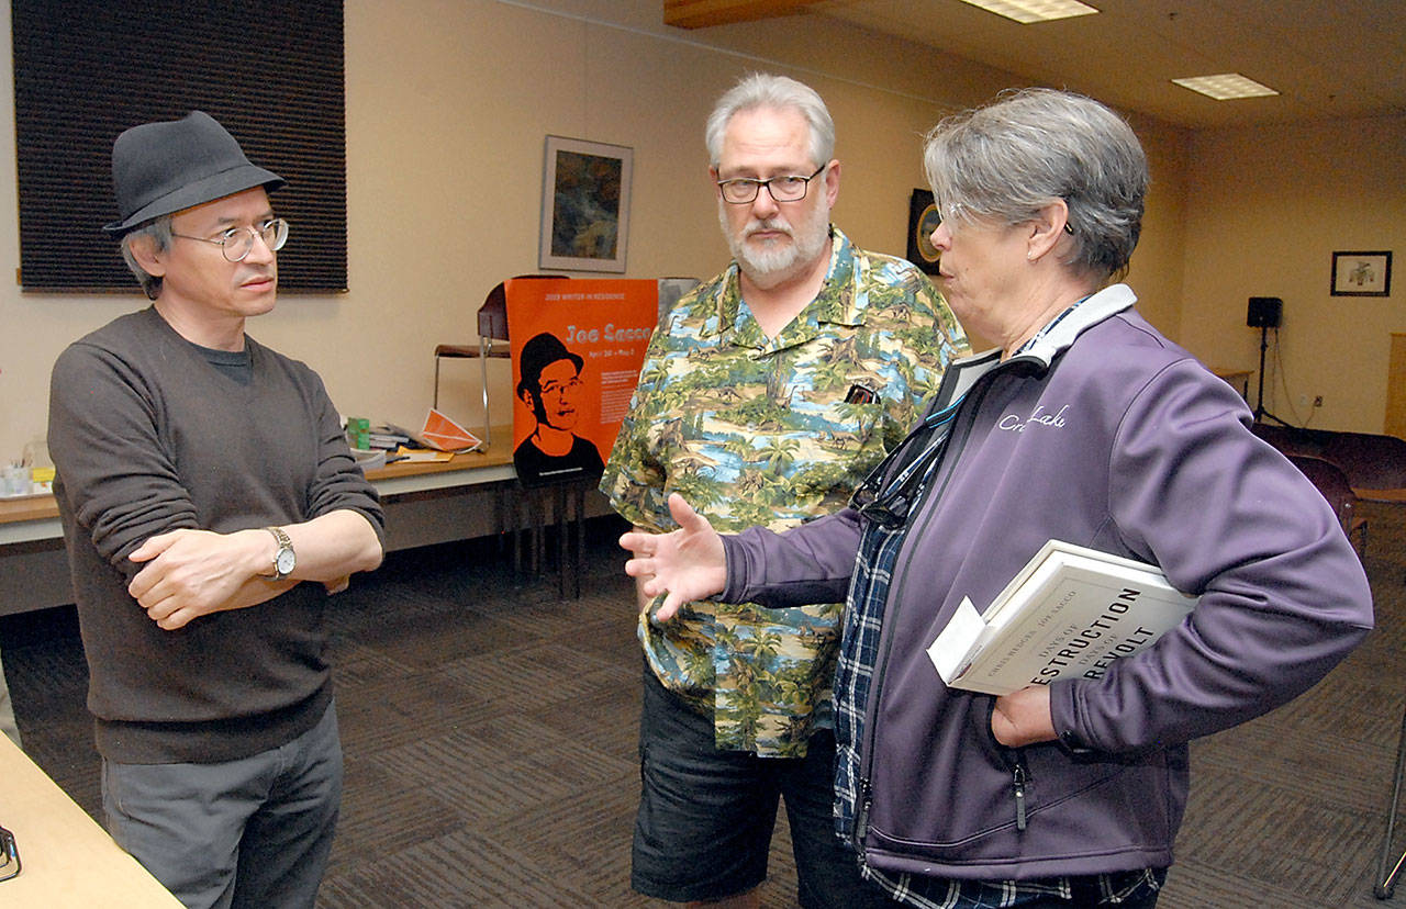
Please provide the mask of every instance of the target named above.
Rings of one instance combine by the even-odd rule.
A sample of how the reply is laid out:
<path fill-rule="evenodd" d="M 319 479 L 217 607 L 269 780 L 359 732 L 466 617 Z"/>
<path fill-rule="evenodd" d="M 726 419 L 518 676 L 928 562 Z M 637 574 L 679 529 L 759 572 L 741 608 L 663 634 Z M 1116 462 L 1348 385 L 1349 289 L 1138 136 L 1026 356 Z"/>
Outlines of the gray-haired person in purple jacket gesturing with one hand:
<path fill-rule="evenodd" d="M 1147 164 L 1102 104 L 1026 90 L 939 124 L 939 284 L 1000 347 L 955 364 L 841 513 L 786 534 L 626 534 L 648 596 L 769 607 L 848 593 L 837 833 L 897 902 L 1146 909 L 1171 864 L 1187 742 L 1320 680 L 1372 625 L 1361 563 L 1244 402 L 1115 278 Z M 927 648 L 1047 539 L 1157 565 L 1199 597 L 1099 679 L 948 688 Z"/>

